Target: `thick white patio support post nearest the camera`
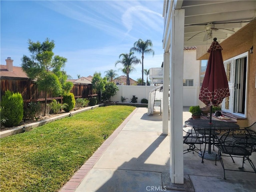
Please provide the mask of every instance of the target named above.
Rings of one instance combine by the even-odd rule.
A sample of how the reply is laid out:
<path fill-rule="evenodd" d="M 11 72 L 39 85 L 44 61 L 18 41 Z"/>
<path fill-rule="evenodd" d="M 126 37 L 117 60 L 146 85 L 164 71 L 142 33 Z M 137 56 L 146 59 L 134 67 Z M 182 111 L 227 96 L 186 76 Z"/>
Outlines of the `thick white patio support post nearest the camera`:
<path fill-rule="evenodd" d="M 170 179 L 184 184 L 182 111 L 184 10 L 173 10 L 170 32 Z"/>

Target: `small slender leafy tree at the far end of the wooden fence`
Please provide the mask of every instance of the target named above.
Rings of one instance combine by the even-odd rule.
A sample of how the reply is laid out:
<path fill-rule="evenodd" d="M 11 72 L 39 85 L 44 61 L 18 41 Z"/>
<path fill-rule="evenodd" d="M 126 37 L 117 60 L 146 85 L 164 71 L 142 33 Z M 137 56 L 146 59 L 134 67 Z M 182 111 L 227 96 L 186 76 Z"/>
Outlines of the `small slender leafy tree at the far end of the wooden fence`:
<path fill-rule="evenodd" d="M 92 77 L 92 89 L 94 89 L 98 94 L 98 100 L 101 100 L 101 93 L 105 90 L 105 85 L 107 84 L 107 78 L 101 77 L 101 73 L 95 72 Z"/>

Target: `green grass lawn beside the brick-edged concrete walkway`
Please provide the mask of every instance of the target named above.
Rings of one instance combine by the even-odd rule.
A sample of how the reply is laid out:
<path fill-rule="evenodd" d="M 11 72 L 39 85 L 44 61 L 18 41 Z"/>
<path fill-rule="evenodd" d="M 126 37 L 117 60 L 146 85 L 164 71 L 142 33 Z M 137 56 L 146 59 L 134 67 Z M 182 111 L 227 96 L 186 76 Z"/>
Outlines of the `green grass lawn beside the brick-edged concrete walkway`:
<path fill-rule="evenodd" d="M 58 192 L 134 109 L 100 107 L 2 138 L 1 192 Z"/>

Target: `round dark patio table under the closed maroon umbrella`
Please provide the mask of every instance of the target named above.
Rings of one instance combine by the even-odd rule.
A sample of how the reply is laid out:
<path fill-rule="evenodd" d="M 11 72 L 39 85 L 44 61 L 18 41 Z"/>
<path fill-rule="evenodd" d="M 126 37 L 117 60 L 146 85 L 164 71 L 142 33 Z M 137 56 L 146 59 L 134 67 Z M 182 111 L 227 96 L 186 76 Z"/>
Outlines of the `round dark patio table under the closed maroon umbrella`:
<path fill-rule="evenodd" d="M 212 133 L 214 133 L 214 131 L 230 131 L 238 130 L 240 128 L 238 124 L 232 122 L 212 120 L 212 123 L 210 123 L 210 120 L 207 119 L 191 119 L 185 121 L 185 124 L 194 129 L 208 131 L 208 151 L 204 152 L 204 158 L 208 160 L 215 160 L 216 158 L 216 153 L 211 151 Z"/>

